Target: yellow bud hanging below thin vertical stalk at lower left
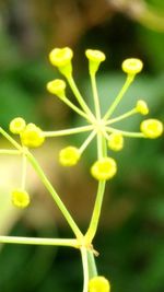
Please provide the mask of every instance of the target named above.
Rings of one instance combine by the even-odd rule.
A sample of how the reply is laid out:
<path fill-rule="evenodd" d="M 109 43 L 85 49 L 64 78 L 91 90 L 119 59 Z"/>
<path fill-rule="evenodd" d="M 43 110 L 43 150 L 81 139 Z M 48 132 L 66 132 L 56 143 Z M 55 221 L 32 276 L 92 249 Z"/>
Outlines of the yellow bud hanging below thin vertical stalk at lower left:
<path fill-rule="evenodd" d="M 30 205 L 30 195 L 24 189 L 13 189 L 11 191 L 12 203 L 17 208 L 26 208 Z"/>

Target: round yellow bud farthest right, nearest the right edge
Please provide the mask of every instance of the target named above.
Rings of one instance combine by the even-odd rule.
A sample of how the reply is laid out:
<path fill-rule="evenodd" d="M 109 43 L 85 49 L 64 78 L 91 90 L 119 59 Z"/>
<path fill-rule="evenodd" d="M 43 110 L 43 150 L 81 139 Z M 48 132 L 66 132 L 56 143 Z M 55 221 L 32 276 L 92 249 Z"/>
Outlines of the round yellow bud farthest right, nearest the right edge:
<path fill-rule="evenodd" d="M 163 133 L 163 124 L 157 119 L 145 119 L 141 122 L 140 129 L 147 138 L 155 139 Z"/>

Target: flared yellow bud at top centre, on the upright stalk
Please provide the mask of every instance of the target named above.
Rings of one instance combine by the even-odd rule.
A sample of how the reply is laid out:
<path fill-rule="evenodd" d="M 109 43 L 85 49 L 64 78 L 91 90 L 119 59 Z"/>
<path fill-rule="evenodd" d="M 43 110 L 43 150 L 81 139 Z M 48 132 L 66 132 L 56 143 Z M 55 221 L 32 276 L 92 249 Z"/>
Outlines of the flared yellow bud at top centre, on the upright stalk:
<path fill-rule="evenodd" d="M 105 54 L 96 49 L 86 49 L 85 56 L 89 59 L 89 70 L 91 74 L 95 74 L 98 70 L 101 62 L 103 62 L 106 57 Z"/>

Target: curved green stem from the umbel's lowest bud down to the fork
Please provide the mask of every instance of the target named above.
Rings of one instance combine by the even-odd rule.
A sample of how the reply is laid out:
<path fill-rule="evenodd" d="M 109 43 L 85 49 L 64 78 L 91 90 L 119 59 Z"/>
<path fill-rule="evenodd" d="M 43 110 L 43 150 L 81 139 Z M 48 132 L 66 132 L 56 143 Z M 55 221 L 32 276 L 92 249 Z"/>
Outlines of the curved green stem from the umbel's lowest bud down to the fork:
<path fill-rule="evenodd" d="M 87 229 L 87 232 L 85 234 L 86 242 L 92 243 L 96 231 L 97 231 L 97 225 L 99 221 L 99 215 L 101 215 L 101 210 L 102 210 L 102 203 L 103 203 L 103 197 L 104 197 L 104 191 L 105 191 L 105 180 L 99 180 L 98 183 L 98 189 L 97 189 L 97 195 L 96 195 L 96 200 L 92 213 L 92 219 Z"/>

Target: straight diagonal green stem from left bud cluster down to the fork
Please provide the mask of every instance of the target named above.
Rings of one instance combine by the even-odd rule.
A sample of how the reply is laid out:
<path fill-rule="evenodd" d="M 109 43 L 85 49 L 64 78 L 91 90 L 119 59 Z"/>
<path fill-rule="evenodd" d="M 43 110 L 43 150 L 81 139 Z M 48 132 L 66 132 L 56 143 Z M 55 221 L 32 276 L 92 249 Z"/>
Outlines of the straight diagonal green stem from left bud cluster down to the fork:
<path fill-rule="evenodd" d="M 62 200 L 60 199 L 60 197 L 58 196 L 57 191 L 54 189 L 52 185 L 50 184 L 50 182 L 46 177 L 46 175 L 43 172 L 42 167 L 39 166 L 39 164 L 37 163 L 37 161 L 32 155 L 31 152 L 27 151 L 26 152 L 26 156 L 27 156 L 30 163 L 33 165 L 34 170 L 36 171 L 37 175 L 39 176 L 40 180 L 43 182 L 43 184 L 45 185 L 47 190 L 50 192 L 51 197 L 54 198 L 54 200 L 57 203 L 58 208 L 60 209 L 61 213 L 66 218 L 68 224 L 72 229 L 72 231 L 75 234 L 77 238 L 81 240 L 83 237 L 83 234 L 81 233 L 80 229 L 78 227 L 77 223 L 72 219 L 72 217 L 69 213 L 69 211 L 67 210 L 67 208 L 65 207 L 65 205 L 63 205 Z"/>

